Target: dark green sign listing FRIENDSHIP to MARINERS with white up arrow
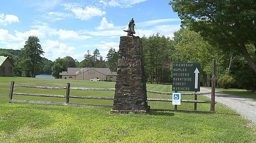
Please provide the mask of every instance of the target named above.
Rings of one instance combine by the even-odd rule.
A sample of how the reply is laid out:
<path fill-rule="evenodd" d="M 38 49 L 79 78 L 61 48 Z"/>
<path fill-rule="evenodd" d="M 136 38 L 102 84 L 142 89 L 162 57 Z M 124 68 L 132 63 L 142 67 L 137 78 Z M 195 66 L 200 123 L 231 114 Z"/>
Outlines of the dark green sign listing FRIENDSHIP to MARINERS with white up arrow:
<path fill-rule="evenodd" d="M 173 91 L 200 91 L 200 63 L 173 63 Z"/>

